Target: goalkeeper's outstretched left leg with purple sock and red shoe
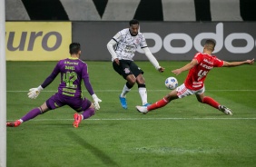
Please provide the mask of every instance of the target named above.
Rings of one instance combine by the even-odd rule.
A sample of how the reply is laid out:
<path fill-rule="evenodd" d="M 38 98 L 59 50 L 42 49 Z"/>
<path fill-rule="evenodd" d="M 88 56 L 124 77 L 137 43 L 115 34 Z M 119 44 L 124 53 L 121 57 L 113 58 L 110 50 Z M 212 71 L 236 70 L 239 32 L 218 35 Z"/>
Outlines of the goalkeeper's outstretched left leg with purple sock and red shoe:
<path fill-rule="evenodd" d="M 39 114 L 45 113 L 49 111 L 46 103 L 43 103 L 40 107 L 32 109 L 30 112 L 26 113 L 25 116 L 23 116 L 21 119 L 16 120 L 15 122 L 6 123 L 6 126 L 8 127 L 17 127 L 21 123 L 27 122 L 31 119 L 34 119 Z"/>

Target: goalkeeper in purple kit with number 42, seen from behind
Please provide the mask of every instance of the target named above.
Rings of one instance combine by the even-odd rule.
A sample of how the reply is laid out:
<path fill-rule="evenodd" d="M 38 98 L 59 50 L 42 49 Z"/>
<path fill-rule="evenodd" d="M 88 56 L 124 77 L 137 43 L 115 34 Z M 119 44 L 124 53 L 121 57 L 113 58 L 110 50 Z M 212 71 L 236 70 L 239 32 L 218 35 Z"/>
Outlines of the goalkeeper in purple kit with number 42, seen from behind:
<path fill-rule="evenodd" d="M 61 83 L 59 84 L 58 92 L 46 100 L 40 107 L 34 108 L 21 119 L 13 123 L 6 123 L 6 126 L 17 127 L 21 123 L 29 121 L 39 114 L 68 105 L 76 112 L 74 113 L 73 125 L 77 128 L 82 120 L 93 116 L 95 111 L 100 109 L 99 103 L 102 102 L 102 100 L 94 93 L 89 79 L 87 64 L 79 59 L 81 54 L 80 44 L 70 44 L 69 53 L 71 56 L 60 60 L 54 67 L 52 74 L 44 80 L 44 83 L 37 88 L 29 90 L 28 97 L 35 99 L 45 87 L 54 81 L 58 74 L 61 74 Z M 88 93 L 92 95 L 94 103 L 83 97 L 81 89 L 82 80 L 84 80 L 84 85 Z"/>

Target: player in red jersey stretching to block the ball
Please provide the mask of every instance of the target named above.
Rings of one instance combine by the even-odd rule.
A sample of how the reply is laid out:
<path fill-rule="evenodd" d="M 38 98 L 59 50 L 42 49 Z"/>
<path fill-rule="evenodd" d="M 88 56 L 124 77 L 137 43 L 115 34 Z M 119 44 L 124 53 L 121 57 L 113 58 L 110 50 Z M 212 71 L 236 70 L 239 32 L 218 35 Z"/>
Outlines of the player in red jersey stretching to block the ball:
<path fill-rule="evenodd" d="M 185 82 L 182 83 L 182 85 L 177 87 L 175 90 L 172 90 L 171 93 L 165 95 L 162 100 L 159 100 L 156 103 L 153 103 L 147 107 L 136 106 L 138 112 L 148 113 L 149 111 L 155 110 L 157 108 L 162 108 L 167 103 L 170 103 L 172 100 L 195 94 L 197 100 L 200 103 L 207 103 L 212 107 L 220 110 L 222 113 L 232 115 L 231 109 L 216 102 L 212 99 L 212 97 L 204 95 L 205 88 L 203 82 L 208 72 L 213 67 L 232 67 L 242 64 L 254 64 L 254 58 L 242 62 L 225 62 L 212 55 L 214 47 L 215 42 L 212 40 L 207 40 L 204 44 L 203 52 L 195 54 L 191 63 L 184 65 L 182 68 L 172 71 L 173 74 L 178 75 L 184 71 L 189 70 L 189 74 L 187 75 Z"/>

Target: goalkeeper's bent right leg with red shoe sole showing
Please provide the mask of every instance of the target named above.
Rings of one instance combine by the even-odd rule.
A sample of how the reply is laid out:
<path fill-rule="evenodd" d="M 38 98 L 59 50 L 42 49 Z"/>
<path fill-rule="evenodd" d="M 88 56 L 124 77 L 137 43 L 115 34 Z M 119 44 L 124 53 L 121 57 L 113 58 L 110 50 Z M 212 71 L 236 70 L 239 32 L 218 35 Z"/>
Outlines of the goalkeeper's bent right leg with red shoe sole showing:
<path fill-rule="evenodd" d="M 76 101 L 80 101 L 80 103 L 70 103 L 69 105 L 77 112 L 74 113 L 73 125 L 75 128 L 78 128 L 82 120 L 88 119 L 95 114 L 95 107 L 94 104 L 86 98 L 81 100 L 77 99 Z"/>

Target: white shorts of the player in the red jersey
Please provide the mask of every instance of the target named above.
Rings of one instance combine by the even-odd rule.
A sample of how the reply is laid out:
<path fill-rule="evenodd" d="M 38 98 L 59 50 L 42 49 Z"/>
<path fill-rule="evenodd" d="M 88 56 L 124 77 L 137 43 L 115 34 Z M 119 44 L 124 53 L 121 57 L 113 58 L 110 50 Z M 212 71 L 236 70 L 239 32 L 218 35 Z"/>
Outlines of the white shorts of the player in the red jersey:
<path fill-rule="evenodd" d="M 204 85 L 201 89 L 197 90 L 197 91 L 193 91 L 191 89 L 186 88 L 185 84 L 182 83 L 182 85 L 180 85 L 179 87 L 176 88 L 176 91 L 178 92 L 177 95 L 179 98 L 183 98 L 186 97 L 188 95 L 192 95 L 192 94 L 202 94 L 205 91 Z"/>

